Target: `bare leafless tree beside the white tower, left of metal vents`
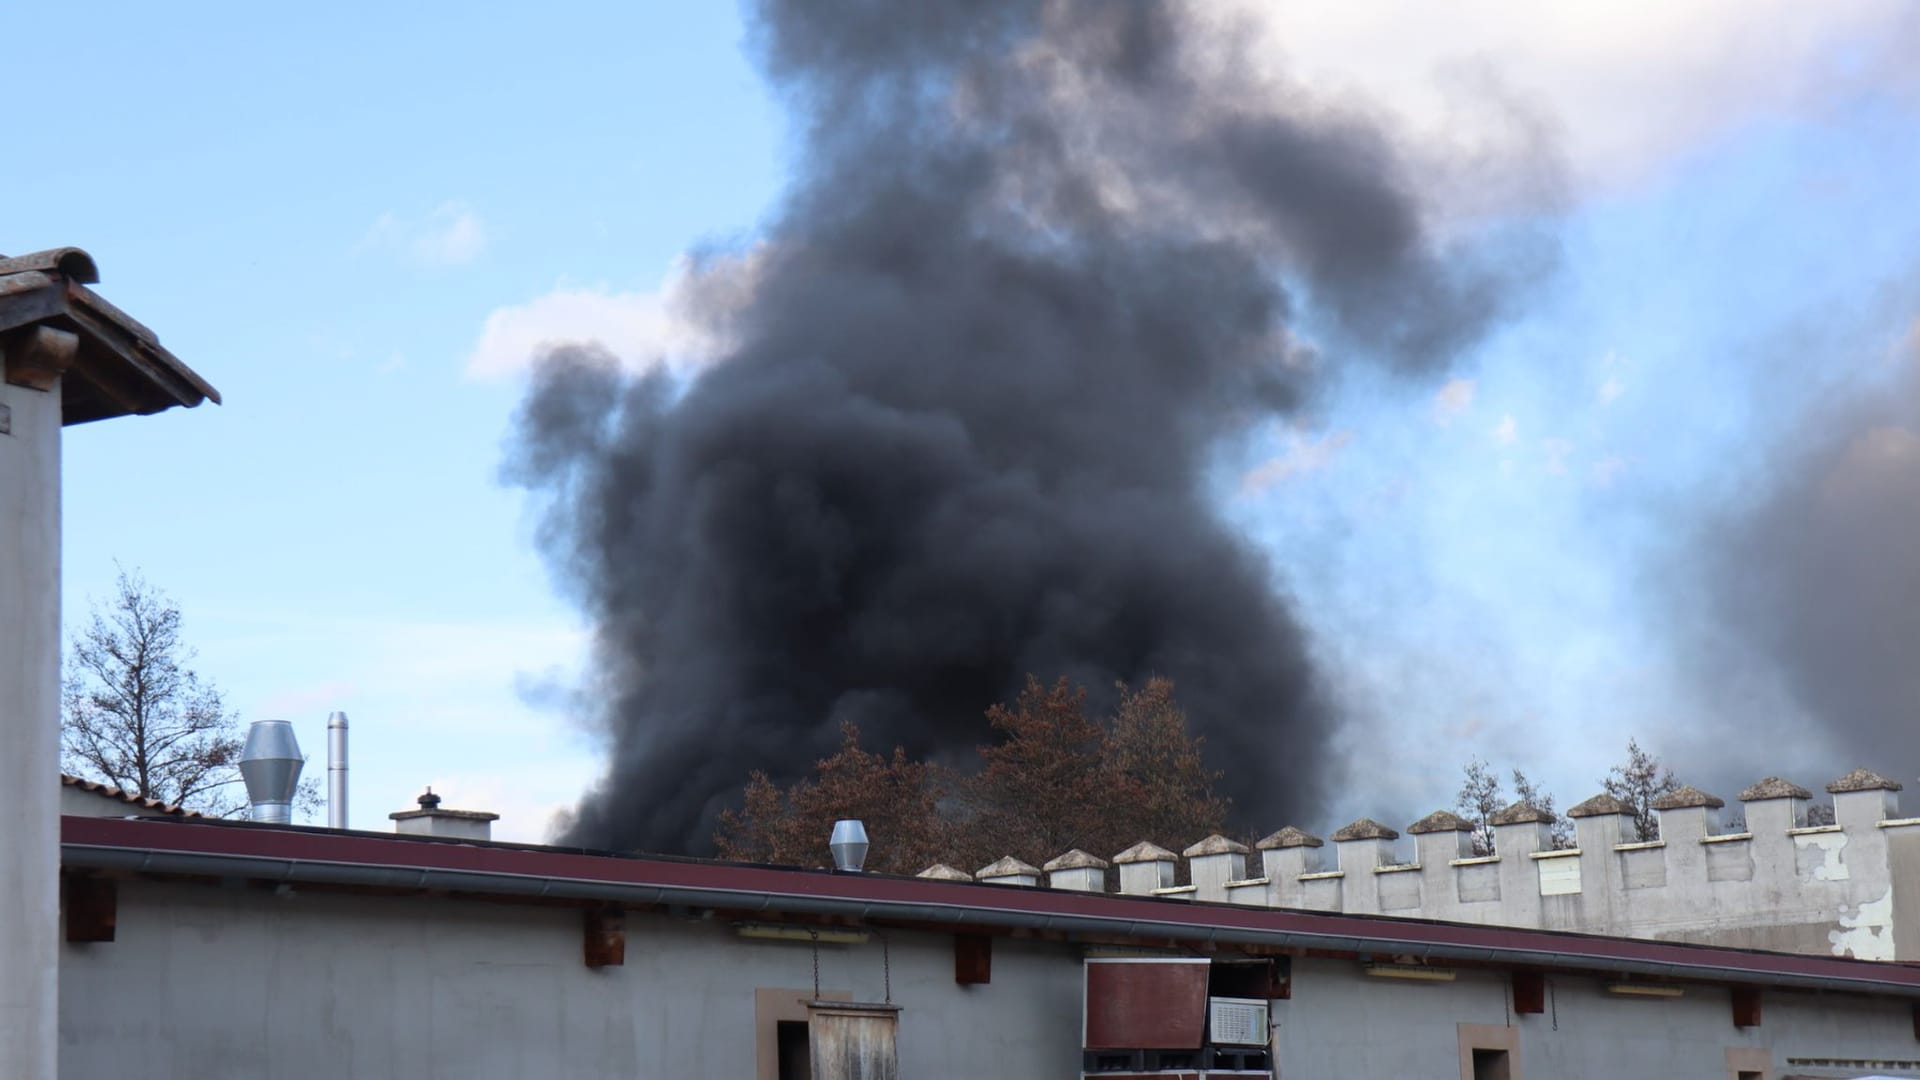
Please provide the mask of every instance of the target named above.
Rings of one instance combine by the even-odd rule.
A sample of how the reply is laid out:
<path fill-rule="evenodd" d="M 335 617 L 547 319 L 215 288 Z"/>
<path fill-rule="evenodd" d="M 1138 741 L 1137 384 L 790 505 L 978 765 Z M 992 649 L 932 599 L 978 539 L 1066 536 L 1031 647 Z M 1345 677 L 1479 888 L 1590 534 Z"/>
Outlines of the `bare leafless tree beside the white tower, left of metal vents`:
<path fill-rule="evenodd" d="M 188 667 L 180 609 L 138 573 L 121 571 L 67 655 L 61 767 L 129 794 L 215 817 L 246 809 L 240 717 Z M 296 798 L 319 801 L 317 778 Z"/>

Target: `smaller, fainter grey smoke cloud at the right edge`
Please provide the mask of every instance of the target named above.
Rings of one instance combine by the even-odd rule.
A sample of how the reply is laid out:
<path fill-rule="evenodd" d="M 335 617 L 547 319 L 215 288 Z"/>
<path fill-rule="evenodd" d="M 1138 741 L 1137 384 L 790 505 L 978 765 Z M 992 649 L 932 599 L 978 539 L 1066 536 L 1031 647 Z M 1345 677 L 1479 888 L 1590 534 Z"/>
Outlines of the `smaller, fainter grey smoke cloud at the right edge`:
<path fill-rule="evenodd" d="M 1734 753 L 1749 771 L 1797 765 L 1809 786 L 1862 765 L 1908 782 L 1920 771 L 1920 327 L 1874 367 L 1866 386 L 1805 409 L 1692 553 L 1726 636 L 1718 671 L 1786 696 L 1715 730 L 1749 748 Z M 1753 738 L 1766 728 L 1791 732 L 1793 763 Z"/>

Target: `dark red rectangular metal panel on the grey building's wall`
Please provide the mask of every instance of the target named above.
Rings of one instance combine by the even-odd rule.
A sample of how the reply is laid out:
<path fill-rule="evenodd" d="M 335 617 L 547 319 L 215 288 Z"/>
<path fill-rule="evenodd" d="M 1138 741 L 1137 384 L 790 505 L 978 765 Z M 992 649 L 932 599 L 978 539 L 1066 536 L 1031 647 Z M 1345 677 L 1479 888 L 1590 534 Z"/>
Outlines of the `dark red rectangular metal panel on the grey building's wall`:
<path fill-rule="evenodd" d="M 1087 1049 L 1200 1049 L 1208 961 L 1087 961 Z"/>

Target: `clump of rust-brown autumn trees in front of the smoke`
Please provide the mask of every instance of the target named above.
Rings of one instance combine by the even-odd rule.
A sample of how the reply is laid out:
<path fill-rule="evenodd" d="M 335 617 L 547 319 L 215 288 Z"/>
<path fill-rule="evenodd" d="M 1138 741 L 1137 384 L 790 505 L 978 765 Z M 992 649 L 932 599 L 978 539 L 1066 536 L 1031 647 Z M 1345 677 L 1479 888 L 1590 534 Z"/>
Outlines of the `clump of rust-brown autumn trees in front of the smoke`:
<path fill-rule="evenodd" d="M 1187 732 L 1165 678 L 1121 686 L 1119 707 L 1100 723 L 1085 690 L 1029 676 L 987 721 L 998 740 L 979 748 L 979 771 L 958 784 L 899 748 L 868 753 L 843 726 L 839 753 L 812 778 L 781 790 L 755 773 L 714 842 L 728 859 L 824 865 L 833 821 L 856 817 L 874 844 L 868 869 L 910 874 L 931 863 L 973 871 L 1000 855 L 1041 865 L 1071 847 L 1112 857 L 1137 840 L 1181 847 L 1223 826 L 1219 774 L 1202 763 L 1202 740 Z"/>

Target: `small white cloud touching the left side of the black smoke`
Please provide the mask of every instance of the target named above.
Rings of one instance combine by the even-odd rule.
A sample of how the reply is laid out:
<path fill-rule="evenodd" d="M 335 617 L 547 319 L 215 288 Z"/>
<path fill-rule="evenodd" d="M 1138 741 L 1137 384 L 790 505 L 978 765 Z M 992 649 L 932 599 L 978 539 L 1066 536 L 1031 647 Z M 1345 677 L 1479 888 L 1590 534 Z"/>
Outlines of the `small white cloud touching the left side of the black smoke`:
<path fill-rule="evenodd" d="M 705 367 L 726 352 L 730 315 L 751 294 L 760 258 L 758 250 L 701 265 L 682 258 L 651 292 L 563 282 L 545 296 L 497 307 L 480 327 L 467 375 L 515 375 L 564 344 L 599 344 L 632 369 Z"/>

